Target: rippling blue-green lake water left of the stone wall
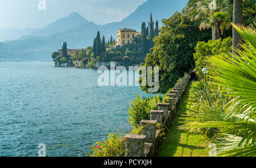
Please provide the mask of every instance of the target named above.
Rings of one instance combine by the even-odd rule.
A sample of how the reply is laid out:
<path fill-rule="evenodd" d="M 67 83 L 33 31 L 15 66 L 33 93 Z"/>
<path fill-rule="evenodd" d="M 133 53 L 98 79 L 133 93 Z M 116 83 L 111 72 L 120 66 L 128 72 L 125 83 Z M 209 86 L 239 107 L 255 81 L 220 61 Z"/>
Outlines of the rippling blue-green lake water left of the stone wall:
<path fill-rule="evenodd" d="M 0 63 L 0 156 L 37 156 L 47 149 L 89 145 L 131 130 L 127 121 L 140 87 L 99 87 L 97 70 L 55 68 L 53 63 Z M 61 147 L 47 156 L 82 156 Z"/>

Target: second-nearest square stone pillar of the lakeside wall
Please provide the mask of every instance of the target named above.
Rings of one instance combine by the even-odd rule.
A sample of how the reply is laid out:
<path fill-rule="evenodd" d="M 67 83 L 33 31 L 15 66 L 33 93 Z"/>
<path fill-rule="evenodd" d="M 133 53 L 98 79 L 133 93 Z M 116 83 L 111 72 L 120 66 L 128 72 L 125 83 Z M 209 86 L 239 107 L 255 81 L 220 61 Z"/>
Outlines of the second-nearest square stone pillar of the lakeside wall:
<path fill-rule="evenodd" d="M 155 144 L 155 124 L 156 120 L 141 120 L 141 126 L 144 127 L 145 141 L 147 143 Z"/>

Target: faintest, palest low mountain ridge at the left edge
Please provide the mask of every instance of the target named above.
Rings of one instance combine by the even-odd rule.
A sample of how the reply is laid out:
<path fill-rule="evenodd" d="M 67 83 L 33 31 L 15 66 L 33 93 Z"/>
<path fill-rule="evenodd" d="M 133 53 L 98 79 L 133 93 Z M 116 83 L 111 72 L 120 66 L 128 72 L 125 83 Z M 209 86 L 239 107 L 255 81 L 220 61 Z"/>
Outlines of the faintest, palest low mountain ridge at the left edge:
<path fill-rule="evenodd" d="M 39 29 L 0 28 L 0 41 L 16 40 L 19 37 L 30 35 L 36 31 L 39 31 Z"/>

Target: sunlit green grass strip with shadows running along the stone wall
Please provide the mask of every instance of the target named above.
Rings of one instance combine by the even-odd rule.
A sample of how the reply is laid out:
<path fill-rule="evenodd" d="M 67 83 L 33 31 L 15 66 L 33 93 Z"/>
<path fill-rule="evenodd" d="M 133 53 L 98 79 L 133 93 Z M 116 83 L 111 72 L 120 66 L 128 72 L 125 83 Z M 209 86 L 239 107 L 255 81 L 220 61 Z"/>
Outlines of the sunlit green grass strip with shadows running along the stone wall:
<path fill-rule="evenodd" d="M 188 98 L 189 92 L 192 93 L 193 85 L 199 83 L 190 82 L 188 88 L 183 95 L 181 104 L 177 109 L 177 115 L 174 120 L 170 132 L 166 133 L 166 141 L 160 147 L 160 157 L 205 157 L 209 156 L 208 149 L 209 141 L 205 140 L 205 137 L 196 133 L 188 133 L 186 130 L 180 130 L 179 126 L 183 123 L 184 118 L 182 115 L 186 114 L 189 109 Z M 187 109 L 185 109 L 187 108 Z"/>

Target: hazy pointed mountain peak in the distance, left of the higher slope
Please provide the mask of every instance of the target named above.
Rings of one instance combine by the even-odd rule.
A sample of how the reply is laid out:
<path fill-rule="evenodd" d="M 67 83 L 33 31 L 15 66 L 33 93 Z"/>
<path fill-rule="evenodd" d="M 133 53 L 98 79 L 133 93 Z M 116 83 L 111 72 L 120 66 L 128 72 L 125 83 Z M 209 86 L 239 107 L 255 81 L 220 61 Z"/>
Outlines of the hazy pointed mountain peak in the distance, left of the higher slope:
<path fill-rule="evenodd" d="M 83 18 L 79 13 L 73 12 L 69 14 L 65 18 L 58 19 L 51 24 L 48 24 L 40 31 L 31 33 L 30 36 L 49 36 L 58 32 L 67 31 L 68 29 L 72 29 L 77 27 L 78 25 L 88 23 L 89 21 Z"/>

